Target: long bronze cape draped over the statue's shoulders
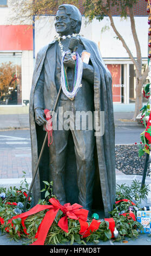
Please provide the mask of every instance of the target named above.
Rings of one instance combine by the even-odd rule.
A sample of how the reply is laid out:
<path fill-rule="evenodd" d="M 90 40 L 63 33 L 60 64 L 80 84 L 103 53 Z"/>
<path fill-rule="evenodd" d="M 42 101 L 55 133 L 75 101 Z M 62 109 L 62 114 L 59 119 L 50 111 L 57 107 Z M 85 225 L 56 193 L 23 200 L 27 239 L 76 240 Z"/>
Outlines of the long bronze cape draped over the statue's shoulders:
<path fill-rule="evenodd" d="M 105 217 L 109 216 L 109 211 L 113 209 L 115 203 L 115 128 L 114 128 L 114 113 L 113 113 L 113 99 L 111 91 L 111 75 L 109 70 L 103 63 L 99 48 L 95 42 L 86 38 L 80 37 L 84 48 L 90 52 L 91 63 L 95 70 L 94 76 L 94 107 L 95 111 L 104 111 L 104 135 L 96 136 L 95 143 L 95 184 L 93 193 L 93 209 L 104 209 Z M 32 175 L 34 175 L 35 166 L 38 160 L 38 155 L 44 141 L 45 131 L 42 126 L 35 123 L 35 114 L 33 109 L 34 90 L 36 83 L 41 74 L 45 55 L 49 47 L 56 48 L 56 41 L 52 41 L 49 45 L 44 46 L 37 54 L 35 70 L 32 78 L 32 87 L 30 93 L 30 136 L 31 136 L 31 154 L 32 154 Z M 54 58 L 54 56 L 53 56 Z M 52 64 L 52 70 L 54 66 Z M 52 72 L 52 83 L 55 83 L 55 71 Z M 53 95 L 55 104 L 57 91 Z M 51 97 L 52 99 L 52 97 Z M 73 138 L 70 136 L 68 140 L 68 150 L 70 157 L 66 162 L 65 168 L 65 191 L 67 192 L 68 203 L 78 203 L 78 190 L 76 186 L 76 161 L 74 154 Z M 51 147 L 51 146 L 50 146 Z M 39 166 L 39 173 L 36 175 L 34 186 L 32 188 L 32 206 L 38 203 L 41 198 L 42 180 L 40 173 L 45 173 L 45 180 L 49 178 L 49 150 L 48 145 L 45 145 L 41 163 Z M 49 181 L 49 180 L 48 180 Z"/>

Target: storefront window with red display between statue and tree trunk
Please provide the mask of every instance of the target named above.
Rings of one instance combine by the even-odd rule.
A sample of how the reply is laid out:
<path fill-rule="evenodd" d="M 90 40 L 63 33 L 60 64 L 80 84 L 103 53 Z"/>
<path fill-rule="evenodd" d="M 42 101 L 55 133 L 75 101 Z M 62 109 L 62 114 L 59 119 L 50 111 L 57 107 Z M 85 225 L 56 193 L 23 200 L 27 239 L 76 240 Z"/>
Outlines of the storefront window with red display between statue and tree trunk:
<path fill-rule="evenodd" d="M 124 90 L 126 84 L 123 82 L 123 64 L 108 64 L 112 76 L 113 103 L 124 103 Z"/>

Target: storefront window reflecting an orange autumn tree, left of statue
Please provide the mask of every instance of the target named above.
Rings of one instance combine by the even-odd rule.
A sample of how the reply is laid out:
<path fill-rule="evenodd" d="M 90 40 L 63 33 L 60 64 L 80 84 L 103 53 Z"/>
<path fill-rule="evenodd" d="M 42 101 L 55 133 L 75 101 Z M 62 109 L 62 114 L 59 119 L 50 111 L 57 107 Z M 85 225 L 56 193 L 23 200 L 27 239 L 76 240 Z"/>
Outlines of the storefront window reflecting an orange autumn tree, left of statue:
<path fill-rule="evenodd" d="M 0 105 L 22 105 L 21 55 L 0 54 Z"/>

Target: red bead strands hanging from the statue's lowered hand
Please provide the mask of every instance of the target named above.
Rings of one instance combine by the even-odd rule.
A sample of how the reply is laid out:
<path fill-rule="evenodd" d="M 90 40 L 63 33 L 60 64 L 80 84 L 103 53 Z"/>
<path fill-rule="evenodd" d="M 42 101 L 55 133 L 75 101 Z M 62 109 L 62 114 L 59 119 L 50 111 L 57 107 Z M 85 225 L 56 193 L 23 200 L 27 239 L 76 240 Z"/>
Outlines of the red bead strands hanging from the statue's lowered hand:
<path fill-rule="evenodd" d="M 47 120 L 47 125 L 45 126 L 45 131 L 48 132 L 48 147 L 49 145 L 52 144 L 52 115 L 50 114 L 49 109 L 44 109 L 44 114 L 45 114 L 45 120 Z M 51 137 L 51 142 L 50 142 L 50 137 Z"/>

